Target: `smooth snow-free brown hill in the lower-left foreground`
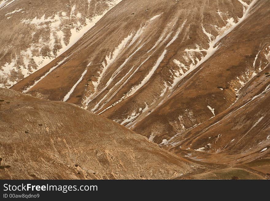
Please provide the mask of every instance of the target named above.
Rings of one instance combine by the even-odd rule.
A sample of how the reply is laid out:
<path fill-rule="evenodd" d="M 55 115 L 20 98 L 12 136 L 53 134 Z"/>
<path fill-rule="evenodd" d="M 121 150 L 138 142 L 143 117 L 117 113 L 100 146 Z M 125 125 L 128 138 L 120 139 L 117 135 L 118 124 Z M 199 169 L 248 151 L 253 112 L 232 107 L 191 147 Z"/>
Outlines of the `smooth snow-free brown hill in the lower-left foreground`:
<path fill-rule="evenodd" d="M 166 179 L 199 167 L 73 104 L 5 88 L 0 128 L 0 179 Z"/>

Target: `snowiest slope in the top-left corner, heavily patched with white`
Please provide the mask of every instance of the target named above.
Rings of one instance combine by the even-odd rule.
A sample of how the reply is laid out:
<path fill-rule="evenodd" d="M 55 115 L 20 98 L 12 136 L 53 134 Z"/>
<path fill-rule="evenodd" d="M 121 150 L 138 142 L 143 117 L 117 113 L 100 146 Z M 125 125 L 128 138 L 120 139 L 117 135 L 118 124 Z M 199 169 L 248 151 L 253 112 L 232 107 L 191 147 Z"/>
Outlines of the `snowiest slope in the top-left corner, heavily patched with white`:
<path fill-rule="evenodd" d="M 0 0 L 0 87 L 42 68 L 120 0 Z"/>

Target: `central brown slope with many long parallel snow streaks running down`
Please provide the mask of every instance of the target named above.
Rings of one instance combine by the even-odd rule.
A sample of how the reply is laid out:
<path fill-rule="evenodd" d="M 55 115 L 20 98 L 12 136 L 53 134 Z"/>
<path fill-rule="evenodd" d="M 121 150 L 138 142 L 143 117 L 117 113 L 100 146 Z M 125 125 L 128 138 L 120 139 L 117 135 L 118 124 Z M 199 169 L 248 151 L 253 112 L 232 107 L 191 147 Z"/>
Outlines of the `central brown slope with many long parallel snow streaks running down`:
<path fill-rule="evenodd" d="M 65 54 L 14 89 L 132 124 L 136 118 L 128 117 L 162 102 L 213 53 L 214 42 L 245 18 L 241 2 L 122 1 Z"/>

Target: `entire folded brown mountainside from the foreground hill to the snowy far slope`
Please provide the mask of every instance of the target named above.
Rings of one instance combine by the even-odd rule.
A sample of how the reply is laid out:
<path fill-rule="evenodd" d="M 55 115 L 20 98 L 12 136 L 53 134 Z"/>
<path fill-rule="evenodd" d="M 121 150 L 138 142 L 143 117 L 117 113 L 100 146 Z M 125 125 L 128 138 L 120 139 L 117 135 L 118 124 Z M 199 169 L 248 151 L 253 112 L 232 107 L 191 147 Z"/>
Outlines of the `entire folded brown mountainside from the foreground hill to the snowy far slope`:
<path fill-rule="evenodd" d="M 269 7 L 123 0 L 12 88 L 75 103 L 190 160 L 250 168 L 263 158 L 254 168 L 268 173 Z"/>

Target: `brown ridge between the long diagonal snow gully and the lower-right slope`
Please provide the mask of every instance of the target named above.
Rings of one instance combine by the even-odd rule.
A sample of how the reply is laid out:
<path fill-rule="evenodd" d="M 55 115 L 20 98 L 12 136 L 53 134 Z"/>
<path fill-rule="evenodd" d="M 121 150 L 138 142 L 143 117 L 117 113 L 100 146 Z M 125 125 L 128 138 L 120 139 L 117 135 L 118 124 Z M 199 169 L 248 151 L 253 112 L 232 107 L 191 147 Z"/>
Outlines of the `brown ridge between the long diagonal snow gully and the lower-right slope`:
<path fill-rule="evenodd" d="M 174 93 L 133 130 L 156 136 L 154 141 L 161 143 L 187 128 L 202 124 L 232 105 L 240 107 L 249 101 L 251 89 L 248 86 L 253 82 L 269 81 L 268 6 L 269 1 L 257 1 L 248 17 L 220 41 L 215 54 L 195 73 L 181 80 Z M 259 75 L 260 81 L 255 79 Z M 260 84 L 251 96 L 260 94 L 260 87 L 265 88 Z"/>

